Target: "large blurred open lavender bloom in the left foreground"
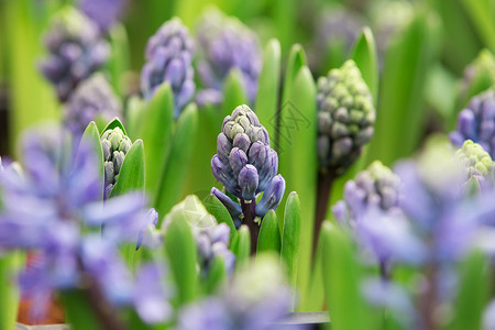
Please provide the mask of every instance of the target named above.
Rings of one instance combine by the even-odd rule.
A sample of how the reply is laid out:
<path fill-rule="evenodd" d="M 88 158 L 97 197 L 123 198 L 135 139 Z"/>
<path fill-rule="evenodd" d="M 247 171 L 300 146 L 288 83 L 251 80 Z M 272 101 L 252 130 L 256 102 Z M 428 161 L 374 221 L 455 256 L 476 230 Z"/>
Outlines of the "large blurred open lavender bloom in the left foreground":
<path fill-rule="evenodd" d="M 103 204 L 103 180 L 92 146 L 81 143 L 76 156 L 72 147 L 70 135 L 58 128 L 24 136 L 22 175 L 0 176 L 0 249 L 38 253 L 36 264 L 21 274 L 22 286 L 38 302 L 35 308 L 43 309 L 54 290 L 81 287 L 102 294 L 106 301 L 90 301 L 95 307 L 146 301 L 145 296 L 136 296 L 136 289 L 142 295 L 143 288 L 136 286 L 118 250 L 121 242 L 135 243 L 147 226 L 145 199 L 132 193 Z M 163 292 L 155 283 L 148 286 L 146 293 L 155 297 Z M 156 314 L 150 319 L 145 312 L 141 316 L 156 320 Z"/>

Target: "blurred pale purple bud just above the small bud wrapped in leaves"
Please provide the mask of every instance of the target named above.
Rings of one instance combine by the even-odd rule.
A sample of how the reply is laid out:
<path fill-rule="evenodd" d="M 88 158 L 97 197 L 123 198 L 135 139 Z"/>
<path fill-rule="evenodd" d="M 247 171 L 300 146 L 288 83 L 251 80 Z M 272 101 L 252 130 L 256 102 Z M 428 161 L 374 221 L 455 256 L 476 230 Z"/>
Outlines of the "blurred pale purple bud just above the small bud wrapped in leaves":
<path fill-rule="evenodd" d="M 108 122 L 122 116 L 122 105 L 110 84 L 101 74 L 84 80 L 68 99 L 65 108 L 65 124 L 75 135 L 82 135 L 87 125 L 101 118 Z"/>

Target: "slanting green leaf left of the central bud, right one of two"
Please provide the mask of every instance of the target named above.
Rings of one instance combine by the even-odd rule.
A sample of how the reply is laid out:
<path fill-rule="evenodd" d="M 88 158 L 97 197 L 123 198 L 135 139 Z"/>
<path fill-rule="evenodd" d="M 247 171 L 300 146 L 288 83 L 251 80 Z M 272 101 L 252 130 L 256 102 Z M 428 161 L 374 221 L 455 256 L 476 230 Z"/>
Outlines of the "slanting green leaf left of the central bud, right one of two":
<path fill-rule="evenodd" d="M 160 215 L 165 215 L 180 198 L 182 188 L 189 170 L 194 141 L 198 128 L 198 110 L 191 103 L 180 114 L 177 129 L 172 139 L 170 152 L 164 167 L 155 207 Z M 156 179 L 158 179 L 156 177 Z"/>

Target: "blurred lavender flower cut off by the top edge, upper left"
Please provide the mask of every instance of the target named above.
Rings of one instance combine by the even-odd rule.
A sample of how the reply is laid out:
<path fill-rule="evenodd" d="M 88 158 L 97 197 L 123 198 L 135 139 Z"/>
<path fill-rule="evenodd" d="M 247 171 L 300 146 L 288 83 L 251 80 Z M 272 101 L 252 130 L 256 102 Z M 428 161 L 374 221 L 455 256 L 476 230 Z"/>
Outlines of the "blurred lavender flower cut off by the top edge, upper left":
<path fill-rule="evenodd" d="M 102 33 L 107 33 L 120 19 L 128 0 L 78 0 L 80 10 Z"/>

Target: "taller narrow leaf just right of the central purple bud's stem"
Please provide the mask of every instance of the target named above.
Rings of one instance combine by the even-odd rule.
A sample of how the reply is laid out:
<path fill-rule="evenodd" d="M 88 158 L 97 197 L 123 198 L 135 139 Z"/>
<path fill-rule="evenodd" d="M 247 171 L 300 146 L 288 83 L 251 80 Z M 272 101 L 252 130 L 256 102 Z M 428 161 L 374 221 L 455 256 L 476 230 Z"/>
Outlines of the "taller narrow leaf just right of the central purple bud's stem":
<path fill-rule="evenodd" d="M 287 271 L 287 278 L 296 286 L 300 235 L 300 202 L 296 191 L 287 198 L 284 213 L 284 230 L 282 231 L 280 258 Z"/>

